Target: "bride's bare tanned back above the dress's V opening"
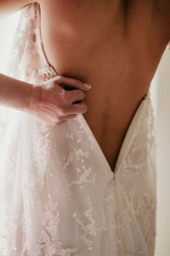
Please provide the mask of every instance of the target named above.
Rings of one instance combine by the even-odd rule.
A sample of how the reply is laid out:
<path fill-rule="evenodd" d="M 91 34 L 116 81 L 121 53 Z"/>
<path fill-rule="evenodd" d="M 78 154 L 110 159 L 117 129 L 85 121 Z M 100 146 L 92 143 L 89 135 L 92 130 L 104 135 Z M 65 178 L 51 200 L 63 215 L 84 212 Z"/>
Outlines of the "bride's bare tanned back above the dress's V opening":
<path fill-rule="evenodd" d="M 127 129 L 169 41 L 170 1 L 39 3 L 44 54 L 59 75 L 92 84 L 82 100 L 88 106 L 84 118 L 114 171 Z"/>

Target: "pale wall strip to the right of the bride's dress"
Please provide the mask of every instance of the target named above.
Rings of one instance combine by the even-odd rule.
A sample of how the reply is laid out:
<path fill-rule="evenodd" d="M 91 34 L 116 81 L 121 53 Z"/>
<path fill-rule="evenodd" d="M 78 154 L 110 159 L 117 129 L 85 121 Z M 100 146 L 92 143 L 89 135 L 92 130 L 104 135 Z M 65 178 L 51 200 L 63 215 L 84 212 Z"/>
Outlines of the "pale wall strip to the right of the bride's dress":
<path fill-rule="evenodd" d="M 152 89 L 156 103 L 157 236 L 156 256 L 170 255 L 170 50 L 157 68 Z M 155 88 L 154 88 L 155 87 Z"/>

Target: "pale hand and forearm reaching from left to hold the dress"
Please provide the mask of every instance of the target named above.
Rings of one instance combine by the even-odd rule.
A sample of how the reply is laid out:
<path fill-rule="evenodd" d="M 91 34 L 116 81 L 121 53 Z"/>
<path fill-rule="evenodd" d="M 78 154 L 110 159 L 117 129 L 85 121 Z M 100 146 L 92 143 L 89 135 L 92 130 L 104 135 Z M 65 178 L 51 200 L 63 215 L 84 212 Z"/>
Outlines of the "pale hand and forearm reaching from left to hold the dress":
<path fill-rule="evenodd" d="M 61 84 L 71 90 L 63 89 Z M 88 84 L 59 75 L 40 85 L 0 74 L 0 105 L 31 113 L 50 125 L 60 125 L 87 112 L 82 100 L 88 89 Z"/>

